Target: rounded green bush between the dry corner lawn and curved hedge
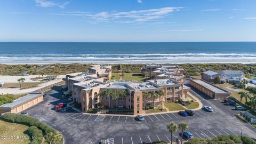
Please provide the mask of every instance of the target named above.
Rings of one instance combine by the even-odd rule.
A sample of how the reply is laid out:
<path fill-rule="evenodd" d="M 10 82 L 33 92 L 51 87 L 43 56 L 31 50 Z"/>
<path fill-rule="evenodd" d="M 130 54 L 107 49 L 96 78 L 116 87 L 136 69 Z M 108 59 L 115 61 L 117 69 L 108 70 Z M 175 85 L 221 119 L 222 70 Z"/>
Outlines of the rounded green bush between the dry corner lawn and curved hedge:
<path fill-rule="evenodd" d="M 39 130 L 36 126 L 30 126 L 26 133 L 30 137 L 30 144 L 41 144 L 43 142 L 43 132 Z"/>

